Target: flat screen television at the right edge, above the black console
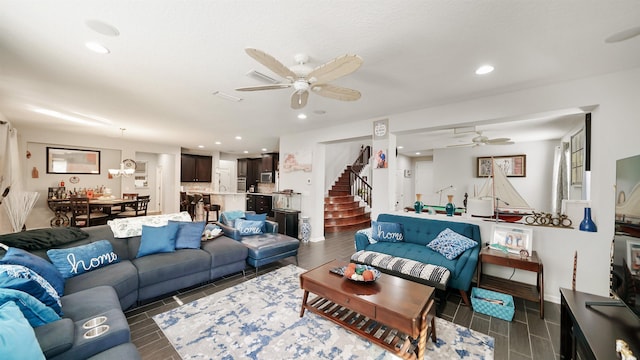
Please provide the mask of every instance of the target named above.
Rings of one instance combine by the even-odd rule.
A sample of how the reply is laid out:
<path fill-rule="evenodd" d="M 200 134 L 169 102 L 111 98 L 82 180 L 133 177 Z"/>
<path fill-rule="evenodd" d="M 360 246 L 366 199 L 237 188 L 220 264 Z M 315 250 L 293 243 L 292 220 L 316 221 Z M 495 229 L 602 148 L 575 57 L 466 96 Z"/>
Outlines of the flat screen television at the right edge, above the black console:
<path fill-rule="evenodd" d="M 640 155 L 616 162 L 611 293 L 640 317 Z"/>

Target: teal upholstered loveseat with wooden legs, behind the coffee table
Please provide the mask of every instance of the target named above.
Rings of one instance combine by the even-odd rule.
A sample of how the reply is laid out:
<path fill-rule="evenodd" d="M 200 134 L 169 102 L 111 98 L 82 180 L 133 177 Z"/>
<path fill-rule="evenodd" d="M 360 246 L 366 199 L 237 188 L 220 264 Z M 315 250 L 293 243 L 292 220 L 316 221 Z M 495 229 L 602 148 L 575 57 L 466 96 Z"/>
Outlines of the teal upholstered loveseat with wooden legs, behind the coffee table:
<path fill-rule="evenodd" d="M 458 289 L 465 304 L 470 305 L 467 291 L 471 286 L 471 280 L 478 264 L 478 254 L 482 243 L 478 225 L 393 214 L 380 214 L 377 221 L 402 224 L 404 240 L 401 242 L 370 243 L 365 232 L 357 232 L 355 235 L 356 251 L 387 254 L 396 258 L 444 267 L 450 271 L 447 286 Z M 467 249 L 452 260 L 448 260 L 426 246 L 447 228 L 474 240 L 478 246 Z M 354 258 L 352 257 L 352 259 Z M 418 278 L 414 280 L 421 281 Z"/>

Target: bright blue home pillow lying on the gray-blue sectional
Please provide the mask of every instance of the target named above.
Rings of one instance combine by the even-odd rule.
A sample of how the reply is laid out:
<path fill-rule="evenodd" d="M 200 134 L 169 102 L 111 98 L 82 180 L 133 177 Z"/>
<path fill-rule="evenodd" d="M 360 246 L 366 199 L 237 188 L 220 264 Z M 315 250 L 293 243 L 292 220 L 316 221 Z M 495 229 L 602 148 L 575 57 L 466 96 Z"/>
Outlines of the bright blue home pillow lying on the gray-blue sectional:
<path fill-rule="evenodd" d="M 47 256 L 65 279 L 120 262 L 108 240 L 67 249 L 50 249 Z"/>

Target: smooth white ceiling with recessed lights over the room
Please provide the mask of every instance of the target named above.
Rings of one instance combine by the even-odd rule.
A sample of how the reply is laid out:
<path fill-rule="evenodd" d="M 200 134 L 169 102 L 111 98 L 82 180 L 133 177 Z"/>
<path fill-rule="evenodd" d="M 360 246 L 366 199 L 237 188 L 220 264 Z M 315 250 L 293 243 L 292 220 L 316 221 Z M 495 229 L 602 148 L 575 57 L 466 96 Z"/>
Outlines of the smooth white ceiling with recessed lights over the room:
<path fill-rule="evenodd" d="M 604 41 L 640 25 L 636 0 L 0 0 L 0 9 L 0 113 L 14 126 L 113 137 L 126 128 L 124 136 L 132 140 L 229 153 L 277 150 L 285 133 L 640 64 L 640 36 Z M 87 20 L 108 23 L 119 35 L 100 34 Z M 98 41 L 111 53 L 90 52 L 87 41 Z M 308 118 L 299 120 L 300 111 L 289 107 L 290 89 L 234 90 L 264 84 L 245 76 L 250 70 L 278 78 L 247 56 L 245 47 L 287 66 L 297 53 L 309 55 L 312 67 L 357 54 L 362 67 L 332 83 L 357 89 L 362 98 L 341 102 L 311 94 L 303 109 Z M 496 70 L 475 75 L 485 63 Z M 243 100 L 223 100 L 214 91 Z M 34 108 L 105 125 L 73 124 Z M 478 124 L 478 129 L 490 138 L 526 141 L 521 134 L 553 128 L 549 118 L 543 121 L 529 120 L 528 127 Z M 571 128 L 575 121 L 581 120 L 560 123 Z M 562 131 L 556 128 L 560 135 L 553 136 Z M 433 132 L 437 142 L 427 141 L 424 132 L 397 141 L 407 145 L 401 153 L 411 154 L 473 137 L 452 133 Z M 242 140 L 235 140 L 237 135 Z"/>

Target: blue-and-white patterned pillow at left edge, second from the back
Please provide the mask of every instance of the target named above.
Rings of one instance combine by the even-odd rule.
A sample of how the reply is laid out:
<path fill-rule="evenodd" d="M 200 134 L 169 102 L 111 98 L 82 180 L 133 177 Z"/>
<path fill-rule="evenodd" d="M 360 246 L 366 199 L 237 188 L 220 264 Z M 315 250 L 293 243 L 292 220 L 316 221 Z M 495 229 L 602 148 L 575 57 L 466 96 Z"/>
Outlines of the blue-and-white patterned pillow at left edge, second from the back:
<path fill-rule="evenodd" d="M 56 289 L 28 267 L 0 265 L 0 288 L 25 292 L 62 315 L 62 304 Z"/>

